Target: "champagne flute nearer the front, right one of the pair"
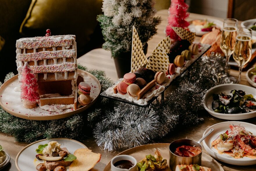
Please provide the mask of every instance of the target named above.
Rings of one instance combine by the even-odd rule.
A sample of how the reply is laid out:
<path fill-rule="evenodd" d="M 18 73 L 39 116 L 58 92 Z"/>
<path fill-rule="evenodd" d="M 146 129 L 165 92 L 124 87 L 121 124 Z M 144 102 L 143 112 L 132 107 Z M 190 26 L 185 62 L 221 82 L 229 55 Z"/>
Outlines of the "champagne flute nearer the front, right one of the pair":
<path fill-rule="evenodd" d="M 236 39 L 233 58 L 239 66 L 239 83 L 243 66 L 248 63 L 252 57 L 252 29 L 239 28 Z"/>

